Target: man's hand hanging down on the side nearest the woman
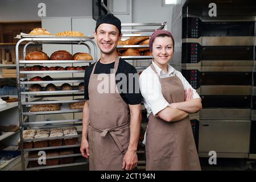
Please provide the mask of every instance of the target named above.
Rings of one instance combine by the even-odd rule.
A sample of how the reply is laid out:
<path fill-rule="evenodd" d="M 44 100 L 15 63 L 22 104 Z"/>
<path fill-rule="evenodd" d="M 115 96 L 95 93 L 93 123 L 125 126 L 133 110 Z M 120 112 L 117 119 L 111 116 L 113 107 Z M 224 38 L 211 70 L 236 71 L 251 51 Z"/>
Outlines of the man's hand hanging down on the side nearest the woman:
<path fill-rule="evenodd" d="M 122 168 L 130 171 L 131 169 L 137 167 L 138 156 L 136 151 L 127 151 L 125 156 L 123 156 L 123 166 Z"/>

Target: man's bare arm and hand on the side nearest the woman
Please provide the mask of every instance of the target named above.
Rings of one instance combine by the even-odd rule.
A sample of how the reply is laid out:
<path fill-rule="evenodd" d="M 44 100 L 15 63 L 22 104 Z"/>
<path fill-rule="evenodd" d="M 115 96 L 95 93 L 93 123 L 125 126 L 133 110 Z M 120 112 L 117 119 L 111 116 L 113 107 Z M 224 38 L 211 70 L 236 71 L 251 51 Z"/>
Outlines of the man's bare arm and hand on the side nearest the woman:
<path fill-rule="evenodd" d="M 130 108 L 130 142 L 128 150 L 123 157 L 122 168 L 131 170 L 137 166 L 137 146 L 139 141 L 139 133 L 141 131 L 141 104 L 129 105 Z"/>

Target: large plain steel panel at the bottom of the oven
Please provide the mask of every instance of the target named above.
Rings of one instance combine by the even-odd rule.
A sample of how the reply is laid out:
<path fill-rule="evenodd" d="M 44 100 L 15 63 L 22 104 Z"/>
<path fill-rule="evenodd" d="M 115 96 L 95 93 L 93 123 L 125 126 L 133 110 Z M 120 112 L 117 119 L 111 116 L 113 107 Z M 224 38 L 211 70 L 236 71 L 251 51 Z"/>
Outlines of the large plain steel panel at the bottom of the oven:
<path fill-rule="evenodd" d="M 250 121 L 201 120 L 199 152 L 249 153 Z"/>

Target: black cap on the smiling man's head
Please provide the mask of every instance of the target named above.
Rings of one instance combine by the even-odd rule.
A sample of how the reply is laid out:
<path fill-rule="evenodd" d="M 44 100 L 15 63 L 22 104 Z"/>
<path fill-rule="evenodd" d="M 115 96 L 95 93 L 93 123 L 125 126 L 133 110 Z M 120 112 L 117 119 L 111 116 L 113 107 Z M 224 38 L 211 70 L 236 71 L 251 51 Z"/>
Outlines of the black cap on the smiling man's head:
<path fill-rule="evenodd" d="M 108 13 L 105 15 L 101 15 L 97 19 L 95 32 L 97 31 L 98 26 L 100 26 L 100 24 L 102 24 L 102 23 L 113 24 L 115 27 L 118 28 L 119 35 L 121 34 L 121 21 L 113 14 Z"/>

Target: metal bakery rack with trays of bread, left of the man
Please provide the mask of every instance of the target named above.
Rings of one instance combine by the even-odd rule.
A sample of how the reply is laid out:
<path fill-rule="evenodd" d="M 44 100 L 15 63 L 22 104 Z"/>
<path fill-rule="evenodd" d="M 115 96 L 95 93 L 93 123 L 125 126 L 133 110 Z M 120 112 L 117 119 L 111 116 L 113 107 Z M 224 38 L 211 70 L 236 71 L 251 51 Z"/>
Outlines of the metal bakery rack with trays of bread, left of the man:
<path fill-rule="evenodd" d="M 45 114 L 64 114 L 64 113 L 82 113 L 82 109 L 69 109 L 68 103 L 74 102 L 84 102 L 85 100 L 44 100 L 44 98 L 52 97 L 67 97 L 72 96 L 72 98 L 76 96 L 84 96 L 84 90 L 79 90 L 76 86 L 73 86 L 73 90 L 60 90 L 57 86 L 56 91 L 40 91 L 40 92 L 29 92 L 28 88 L 31 84 L 63 84 L 63 83 L 78 83 L 84 82 L 84 77 L 74 77 L 73 73 L 84 73 L 84 70 L 74 70 L 74 71 L 23 71 L 21 69 L 21 64 L 26 68 L 28 65 L 34 64 L 92 64 L 97 60 L 97 47 L 93 41 L 93 37 L 55 37 L 55 36 L 30 36 L 24 35 L 20 37 L 18 43 L 16 43 L 16 73 L 17 73 L 17 87 L 18 87 L 18 107 L 19 107 L 19 126 L 20 126 L 20 151 L 22 158 L 22 169 L 26 171 L 31 170 L 40 170 L 40 169 L 49 169 L 49 168 L 59 168 L 59 167 L 68 167 L 68 166 L 78 166 L 88 164 L 88 160 L 81 157 L 79 147 L 81 140 L 81 132 L 77 131 L 77 135 L 64 136 L 64 137 L 51 137 L 51 138 L 34 138 L 34 139 L 23 139 L 23 130 L 26 129 L 51 129 L 53 127 L 66 127 L 66 126 L 81 126 L 82 119 L 62 119 L 55 121 L 32 121 L 31 117 L 35 117 L 38 115 Z M 31 44 L 80 44 L 88 48 L 88 53 L 92 54 L 92 49 L 88 43 L 91 43 L 94 48 L 93 57 L 94 60 L 61 60 L 61 61 L 42 61 L 42 60 L 19 60 L 19 48 L 21 44 L 25 44 L 23 48 L 23 57 L 26 57 L 26 48 Z M 44 73 L 72 73 L 72 76 L 67 78 L 53 78 L 52 81 L 28 81 L 28 78 L 31 75 L 35 74 L 44 74 Z M 69 74 L 71 75 L 71 74 Z M 42 86 L 44 88 L 44 86 Z M 24 100 L 21 98 L 24 97 Z M 36 98 L 36 100 L 35 100 Z M 36 104 L 61 104 L 61 109 L 56 111 L 38 111 L 38 112 L 30 112 L 30 107 Z M 82 114 L 81 114 L 82 115 Z M 40 147 L 40 148 L 24 148 L 24 142 L 35 142 L 38 140 L 49 140 L 49 139 L 68 139 L 68 138 L 79 138 L 77 144 L 71 145 L 63 145 L 63 146 L 53 146 L 53 147 Z M 61 150 L 64 148 L 73 148 L 73 150 L 77 151 L 73 154 L 68 155 L 55 155 L 48 156 L 48 159 L 59 159 L 59 158 L 74 158 L 73 163 L 69 164 L 59 164 L 54 166 L 39 166 L 39 167 L 28 167 L 27 163 L 38 160 L 38 158 L 28 158 L 27 154 L 31 151 L 48 151 L 48 150 Z"/>

